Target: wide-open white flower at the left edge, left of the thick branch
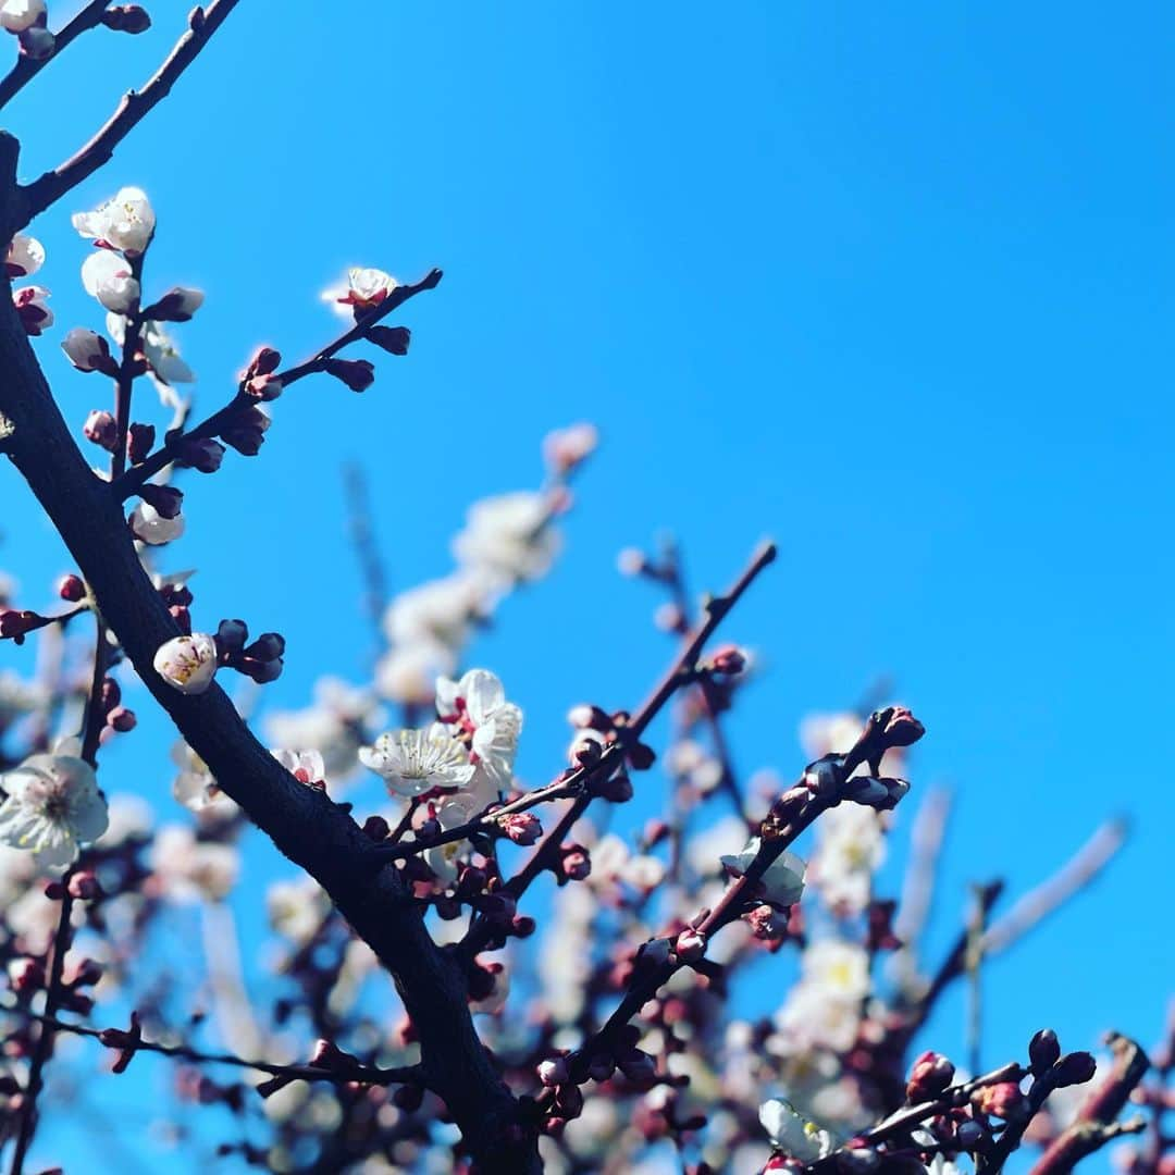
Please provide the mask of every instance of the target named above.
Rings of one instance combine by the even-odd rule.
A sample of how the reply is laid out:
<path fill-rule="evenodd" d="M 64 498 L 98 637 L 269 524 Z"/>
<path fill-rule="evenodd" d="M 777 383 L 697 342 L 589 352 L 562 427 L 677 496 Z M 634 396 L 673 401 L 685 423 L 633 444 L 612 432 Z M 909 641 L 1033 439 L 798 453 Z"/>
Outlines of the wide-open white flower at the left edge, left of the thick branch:
<path fill-rule="evenodd" d="M 106 800 L 94 768 L 72 754 L 34 754 L 0 776 L 0 844 L 26 848 L 41 865 L 62 868 L 83 841 L 106 832 Z"/>

